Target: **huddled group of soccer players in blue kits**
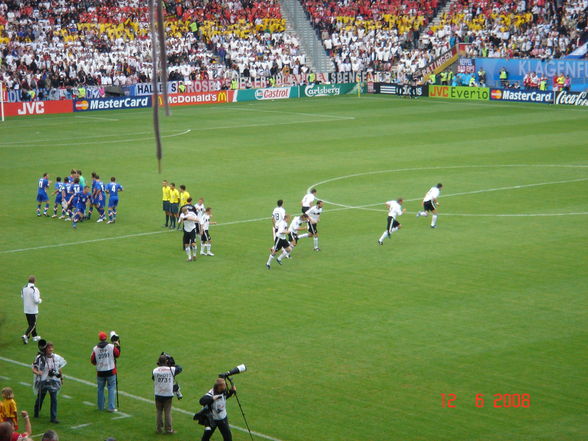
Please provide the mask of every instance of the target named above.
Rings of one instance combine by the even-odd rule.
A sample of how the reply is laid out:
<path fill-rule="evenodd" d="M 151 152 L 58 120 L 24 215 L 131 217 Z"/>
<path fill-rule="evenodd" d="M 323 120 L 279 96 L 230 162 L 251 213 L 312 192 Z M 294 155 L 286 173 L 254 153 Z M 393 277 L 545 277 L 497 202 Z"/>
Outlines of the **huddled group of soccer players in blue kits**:
<path fill-rule="evenodd" d="M 41 216 L 43 204 L 43 216 L 49 217 L 49 195 L 52 182 L 49 180 L 49 174 L 44 173 L 39 179 L 37 188 L 37 216 Z M 72 169 L 69 176 L 61 179 L 60 176 L 55 178 L 53 192 L 55 196 L 53 203 L 52 218 L 71 221 L 74 229 L 77 228 L 78 222 L 90 220 L 94 209 L 98 211 L 98 220 L 96 222 L 108 221 L 113 224 L 116 222 L 118 194 L 123 191 L 122 185 L 116 182 L 116 178 L 110 178 L 108 184 L 104 184 L 97 173 L 92 172 L 92 185 L 86 185 L 86 178 L 82 175 L 81 170 Z M 106 196 L 108 195 L 108 208 L 106 210 Z M 87 210 L 87 212 L 86 212 Z"/>

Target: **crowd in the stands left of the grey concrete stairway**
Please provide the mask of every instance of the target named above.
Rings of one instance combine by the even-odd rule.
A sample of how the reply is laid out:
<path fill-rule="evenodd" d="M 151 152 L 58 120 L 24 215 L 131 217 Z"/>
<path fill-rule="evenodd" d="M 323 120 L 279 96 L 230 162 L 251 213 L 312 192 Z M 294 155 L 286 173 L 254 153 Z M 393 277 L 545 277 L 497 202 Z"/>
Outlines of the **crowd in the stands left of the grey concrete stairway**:
<path fill-rule="evenodd" d="M 148 82 L 148 12 L 138 0 L 0 0 L 0 81 L 23 99 Z M 168 2 L 165 27 L 170 80 L 228 87 L 236 76 L 308 71 L 276 0 Z"/>

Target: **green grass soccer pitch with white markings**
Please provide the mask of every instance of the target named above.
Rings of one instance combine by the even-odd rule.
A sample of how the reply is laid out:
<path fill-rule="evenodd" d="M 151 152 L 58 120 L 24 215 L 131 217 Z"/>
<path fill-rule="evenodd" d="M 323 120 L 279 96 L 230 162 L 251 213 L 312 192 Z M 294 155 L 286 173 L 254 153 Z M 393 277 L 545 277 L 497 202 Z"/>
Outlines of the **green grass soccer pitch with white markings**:
<path fill-rule="evenodd" d="M 150 110 L 0 125 L 0 387 L 20 409 L 34 404 L 20 290 L 35 274 L 39 332 L 68 361 L 65 441 L 161 439 L 162 351 L 185 369 L 178 441 L 200 439 L 197 400 L 240 363 L 257 440 L 588 439 L 586 110 L 347 96 L 172 112 L 161 174 Z M 94 215 L 73 231 L 35 215 L 42 173 L 72 167 L 124 186 L 116 224 Z M 213 207 L 214 257 L 186 262 L 181 233 L 162 228 L 162 179 Z M 438 182 L 433 230 L 415 213 Z M 276 200 L 298 213 L 313 185 L 329 201 L 321 251 L 304 239 L 268 271 Z M 398 197 L 403 228 L 378 246 L 383 204 Z M 123 349 L 114 415 L 96 410 L 89 362 L 111 329 Z M 234 399 L 228 410 L 234 439 L 249 439 Z"/>

